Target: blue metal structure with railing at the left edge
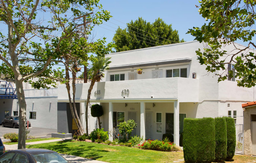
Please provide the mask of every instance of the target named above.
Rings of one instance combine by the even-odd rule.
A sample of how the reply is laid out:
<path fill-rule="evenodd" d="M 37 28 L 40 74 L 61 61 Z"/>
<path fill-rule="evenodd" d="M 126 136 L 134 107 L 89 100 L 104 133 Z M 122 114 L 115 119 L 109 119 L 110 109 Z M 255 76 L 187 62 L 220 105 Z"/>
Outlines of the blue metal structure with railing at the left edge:
<path fill-rule="evenodd" d="M 17 99 L 16 88 L 13 88 L 10 82 L 0 81 L 0 99 Z"/>

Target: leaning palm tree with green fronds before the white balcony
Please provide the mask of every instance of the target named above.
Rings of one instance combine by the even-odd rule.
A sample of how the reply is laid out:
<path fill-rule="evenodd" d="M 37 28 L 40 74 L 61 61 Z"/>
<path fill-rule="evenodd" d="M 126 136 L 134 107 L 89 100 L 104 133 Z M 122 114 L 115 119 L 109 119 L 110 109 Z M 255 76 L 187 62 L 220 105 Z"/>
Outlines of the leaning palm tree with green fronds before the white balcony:
<path fill-rule="evenodd" d="M 108 70 L 108 65 L 111 63 L 110 60 L 111 57 L 104 58 L 102 56 L 97 56 L 96 61 L 93 62 L 91 71 L 92 71 L 92 79 L 91 84 L 88 89 L 88 95 L 86 100 L 86 109 L 85 109 L 85 121 L 86 121 L 86 134 L 88 134 L 88 104 L 91 97 L 91 91 L 93 89 L 93 86 L 95 82 L 101 81 L 101 78 L 104 77 L 103 72 Z"/>

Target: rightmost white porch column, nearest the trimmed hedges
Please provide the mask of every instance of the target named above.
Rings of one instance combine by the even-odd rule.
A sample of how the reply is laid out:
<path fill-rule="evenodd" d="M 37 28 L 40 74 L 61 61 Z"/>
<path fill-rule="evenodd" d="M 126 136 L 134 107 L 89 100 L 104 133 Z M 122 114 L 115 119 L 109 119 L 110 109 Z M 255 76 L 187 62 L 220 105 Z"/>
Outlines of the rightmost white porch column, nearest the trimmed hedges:
<path fill-rule="evenodd" d="M 174 101 L 174 143 L 179 145 L 179 101 Z"/>

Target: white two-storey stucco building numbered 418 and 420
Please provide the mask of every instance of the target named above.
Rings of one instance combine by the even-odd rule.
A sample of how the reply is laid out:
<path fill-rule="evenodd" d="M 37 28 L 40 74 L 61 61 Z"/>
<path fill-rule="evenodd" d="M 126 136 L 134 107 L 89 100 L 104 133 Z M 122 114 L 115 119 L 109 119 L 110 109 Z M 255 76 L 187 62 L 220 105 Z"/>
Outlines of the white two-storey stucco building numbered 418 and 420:
<path fill-rule="evenodd" d="M 232 46 L 225 50 L 232 51 Z M 197 60 L 195 51 L 203 48 L 203 43 L 193 41 L 106 55 L 111 57 L 110 69 L 102 82 L 95 83 L 90 99 L 104 109 L 102 128 L 107 131 L 133 119 L 138 124 L 133 134 L 162 139 L 163 134 L 171 133 L 178 145 L 184 118 L 232 116 L 236 124 L 242 125 L 242 118 L 238 118 L 243 116 L 241 104 L 254 101 L 254 87 L 238 87 L 234 78 L 218 83 L 218 76 L 208 74 L 206 66 Z M 143 72 L 138 74 L 137 69 Z M 89 86 L 77 84 L 75 95 L 84 126 Z M 65 85 L 59 85 L 57 100 L 57 130 L 72 132 Z M 68 121 L 63 118 L 68 116 Z M 89 131 L 96 125 L 89 110 Z M 238 140 L 242 138 L 240 135 Z"/>

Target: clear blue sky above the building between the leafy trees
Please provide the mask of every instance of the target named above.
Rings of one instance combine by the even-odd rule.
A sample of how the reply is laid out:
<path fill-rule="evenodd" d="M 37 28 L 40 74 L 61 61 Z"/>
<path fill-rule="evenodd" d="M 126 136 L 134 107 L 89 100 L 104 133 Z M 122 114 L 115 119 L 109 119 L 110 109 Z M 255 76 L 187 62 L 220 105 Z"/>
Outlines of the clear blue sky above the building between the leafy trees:
<path fill-rule="evenodd" d="M 106 37 L 107 42 L 112 42 L 118 25 L 123 29 L 126 23 L 139 17 L 151 23 L 162 18 L 166 24 L 172 24 L 172 28 L 178 31 L 179 38 L 184 38 L 186 42 L 194 40 L 193 36 L 186 34 L 188 29 L 207 23 L 199 14 L 199 8 L 196 8 L 196 5 L 200 5 L 198 0 L 101 0 L 100 3 L 113 17 L 95 27 L 92 34 L 95 39 Z M 256 42 L 256 38 L 252 41 Z"/>

